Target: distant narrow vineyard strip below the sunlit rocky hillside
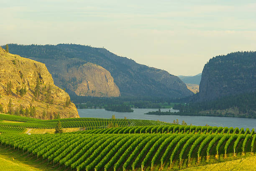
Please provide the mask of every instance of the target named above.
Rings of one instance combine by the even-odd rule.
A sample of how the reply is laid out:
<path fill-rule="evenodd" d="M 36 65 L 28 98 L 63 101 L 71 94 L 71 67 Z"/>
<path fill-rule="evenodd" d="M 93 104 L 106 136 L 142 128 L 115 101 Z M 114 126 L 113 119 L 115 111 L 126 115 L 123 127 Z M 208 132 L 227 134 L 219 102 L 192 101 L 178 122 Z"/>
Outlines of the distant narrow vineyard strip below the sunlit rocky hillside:
<path fill-rule="evenodd" d="M 115 127 L 126 127 L 126 126 L 156 126 L 156 125 L 171 125 L 162 121 L 150 121 L 140 119 L 107 119 L 107 118 L 64 118 L 64 119 L 53 119 L 53 120 L 41 120 L 33 119 L 14 115 L 0 114 L 0 120 L 15 121 L 23 123 L 2 123 L 0 126 L 6 127 L 19 127 L 19 128 L 44 128 L 51 129 L 55 128 L 58 122 L 61 122 L 63 128 L 86 128 L 99 129 L 106 128 L 110 123 Z"/>

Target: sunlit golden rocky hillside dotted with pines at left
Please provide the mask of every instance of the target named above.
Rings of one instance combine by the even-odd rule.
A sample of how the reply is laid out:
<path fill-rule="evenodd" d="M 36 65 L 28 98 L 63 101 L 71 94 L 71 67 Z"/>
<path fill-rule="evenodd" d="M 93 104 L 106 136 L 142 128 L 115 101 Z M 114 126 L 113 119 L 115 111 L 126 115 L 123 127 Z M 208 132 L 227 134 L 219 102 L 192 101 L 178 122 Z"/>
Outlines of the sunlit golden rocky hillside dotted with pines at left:
<path fill-rule="evenodd" d="M 69 95 L 54 85 L 45 64 L 6 53 L 1 47 L 0 94 L 4 112 L 44 119 L 57 114 L 79 117 L 74 103 L 66 103 Z"/>

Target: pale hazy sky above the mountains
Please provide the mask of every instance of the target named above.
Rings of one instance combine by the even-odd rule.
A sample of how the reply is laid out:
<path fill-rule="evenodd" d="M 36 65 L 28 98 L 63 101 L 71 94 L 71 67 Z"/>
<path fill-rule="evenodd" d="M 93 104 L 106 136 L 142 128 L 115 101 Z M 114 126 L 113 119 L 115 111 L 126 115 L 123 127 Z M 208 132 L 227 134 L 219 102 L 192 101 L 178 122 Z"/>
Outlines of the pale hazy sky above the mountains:
<path fill-rule="evenodd" d="M 0 15 L 0 45 L 104 46 L 174 75 L 256 50 L 255 0 L 1 0 Z"/>

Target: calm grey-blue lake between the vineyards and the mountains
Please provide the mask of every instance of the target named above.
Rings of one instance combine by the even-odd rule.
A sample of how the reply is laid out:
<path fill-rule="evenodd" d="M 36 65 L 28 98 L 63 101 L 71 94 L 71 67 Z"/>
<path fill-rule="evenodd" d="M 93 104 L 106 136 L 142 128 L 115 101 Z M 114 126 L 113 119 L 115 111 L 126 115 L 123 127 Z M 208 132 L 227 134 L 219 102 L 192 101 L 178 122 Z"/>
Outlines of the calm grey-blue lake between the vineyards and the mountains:
<path fill-rule="evenodd" d="M 195 126 L 222 126 L 233 128 L 252 128 L 256 129 L 256 119 L 249 118 L 229 118 L 229 117 L 212 117 L 212 116 L 178 116 L 178 115 L 145 115 L 149 111 L 157 111 L 158 109 L 133 109 L 134 112 L 113 112 L 105 111 L 105 109 L 77 109 L 81 118 L 111 118 L 115 115 L 115 118 L 128 118 L 128 119 L 147 119 L 147 120 L 159 120 L 172 123 L 173 120 L 178 119 L 181 124 L 182 121 L 187 122 L 188 125 L 192 123 Z M 177 111 L 170 109 L 171 112 Z M 169 109 L 161 109 L 161 111 L 169 111 Z"/>

